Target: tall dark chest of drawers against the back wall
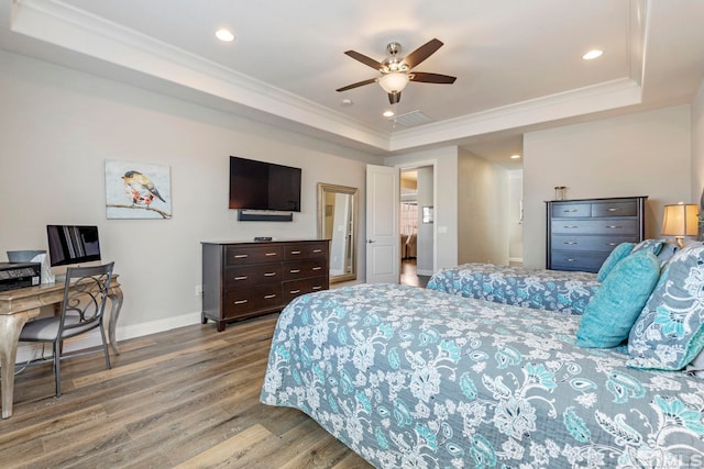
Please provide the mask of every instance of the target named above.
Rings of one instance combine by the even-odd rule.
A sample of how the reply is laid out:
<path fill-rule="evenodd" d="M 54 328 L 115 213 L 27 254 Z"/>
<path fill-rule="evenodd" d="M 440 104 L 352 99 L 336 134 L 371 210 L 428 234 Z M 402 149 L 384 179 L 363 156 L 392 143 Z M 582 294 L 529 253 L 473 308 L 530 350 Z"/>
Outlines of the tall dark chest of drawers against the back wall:
<path fill-rule="evenodd" d="M 620 243 L 645 237 L 647 196 L 547 203 L 546 268 L 596 272 Z"/>

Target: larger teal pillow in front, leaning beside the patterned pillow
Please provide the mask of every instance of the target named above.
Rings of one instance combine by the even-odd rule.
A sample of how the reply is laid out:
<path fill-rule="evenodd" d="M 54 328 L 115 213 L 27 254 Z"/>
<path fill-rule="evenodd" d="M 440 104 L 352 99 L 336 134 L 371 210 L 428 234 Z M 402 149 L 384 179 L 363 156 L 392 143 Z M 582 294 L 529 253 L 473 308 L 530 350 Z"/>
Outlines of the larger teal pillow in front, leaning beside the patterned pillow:
<path fill-rule="evenodd" d="M 576 345 L 608 348 L 628 338 L 659 277 L 658 258 L 647 250 L 616 264 L 584 310 Z"/>

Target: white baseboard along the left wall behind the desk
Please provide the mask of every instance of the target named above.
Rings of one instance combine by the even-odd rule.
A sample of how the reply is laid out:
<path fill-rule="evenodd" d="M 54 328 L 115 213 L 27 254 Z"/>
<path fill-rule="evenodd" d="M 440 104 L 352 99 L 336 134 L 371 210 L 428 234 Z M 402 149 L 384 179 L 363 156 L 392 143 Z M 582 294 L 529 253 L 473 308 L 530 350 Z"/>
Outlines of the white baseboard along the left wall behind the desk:
<path fill-rule="evenodd" d="M 120 327 L 116 331 L 116 337 L 118 345 L 120 340 L 127 340 L 129 338 L 142 337 L 144 335 L 156 334 L 158 332 L 170 331 L 177 327 L 188 326 L 200 323 L 200 313 L 187 313 L 179 316 L 167 317 L 164 320 L 150 321 L 142 324 L 134 324 L 125 327 Z M 18 347 L 18 364 L 23 364 L 32 358 L 38 358 L 42 354 L 43 344 L 30 344 L 22 343 Z M 80 335 L 64 342 L 64 351 L 77 351 L 91 347 L 99 347 L 102 345 L 100 340 L 100 332 L 95 330 L 88 334 Z M 44 345 L 44 356 L 52 357 L 51 344 Z"/>

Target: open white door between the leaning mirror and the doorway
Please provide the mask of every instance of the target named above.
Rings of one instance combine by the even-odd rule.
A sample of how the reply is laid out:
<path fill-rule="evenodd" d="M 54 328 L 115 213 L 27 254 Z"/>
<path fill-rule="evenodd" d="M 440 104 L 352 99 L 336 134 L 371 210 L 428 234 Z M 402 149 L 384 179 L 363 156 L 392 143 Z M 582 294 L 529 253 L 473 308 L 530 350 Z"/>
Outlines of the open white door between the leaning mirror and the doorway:
<path fill-rule="evenodd" d="M 398 283 L 398 169 L 366 165 L 366 282 Z"/>

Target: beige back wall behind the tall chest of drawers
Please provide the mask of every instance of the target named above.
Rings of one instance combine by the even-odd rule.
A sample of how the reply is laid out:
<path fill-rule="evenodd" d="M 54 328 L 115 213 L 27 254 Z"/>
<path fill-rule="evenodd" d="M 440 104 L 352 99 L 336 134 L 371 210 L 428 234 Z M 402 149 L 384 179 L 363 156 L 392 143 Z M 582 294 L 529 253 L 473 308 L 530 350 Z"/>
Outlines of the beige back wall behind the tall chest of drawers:
<path fill-rule="evenodd" d="M 646 235 L 660 237 L 666 203 L 698 200 L 691 147 L 690 105 L 527 133 L 525 265 L 544 267 L 544 201 L 553 199 L 554 186 L 566 186 L 569 199 L 649 196 Z"/>

